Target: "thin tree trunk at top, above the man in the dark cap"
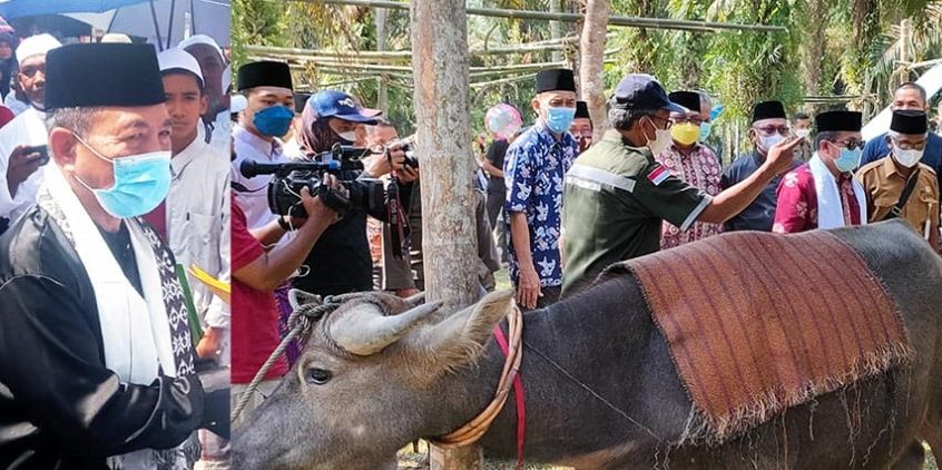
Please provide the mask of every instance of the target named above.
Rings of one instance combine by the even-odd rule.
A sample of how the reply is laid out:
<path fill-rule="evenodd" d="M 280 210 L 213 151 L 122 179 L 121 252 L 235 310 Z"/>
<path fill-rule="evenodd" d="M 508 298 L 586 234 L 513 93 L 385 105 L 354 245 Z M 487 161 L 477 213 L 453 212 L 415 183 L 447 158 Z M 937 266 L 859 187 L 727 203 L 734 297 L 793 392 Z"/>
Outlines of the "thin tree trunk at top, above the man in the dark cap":
<path fill-rule="evenodd" d="M 608 128 L 605 97 L 605 42 L 608 25 L 609 0 L 587 0 L 586 20 L 582 25 L 582 36 L 579 43 L 579 84 L 582 100 L 589 107 L 592 118 L 592 140 L 601 140 Z"/>

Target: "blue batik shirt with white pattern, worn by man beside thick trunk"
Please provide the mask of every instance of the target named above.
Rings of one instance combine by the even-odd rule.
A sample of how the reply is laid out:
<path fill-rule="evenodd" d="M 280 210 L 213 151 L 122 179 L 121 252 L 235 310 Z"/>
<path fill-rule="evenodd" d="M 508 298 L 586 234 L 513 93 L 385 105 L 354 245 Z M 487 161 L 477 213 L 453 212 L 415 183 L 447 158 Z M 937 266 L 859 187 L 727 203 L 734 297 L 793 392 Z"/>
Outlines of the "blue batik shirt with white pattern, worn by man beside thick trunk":
<path fill-rule="evenodd" d="M 562 215 L 562 189 L 566 172 L 579 153 L 579 144 L 563 133 L 557 140 L 546 124 L 540 123 L 520 135 L 507 149 L 503 178 L 507 184 L 504 209 L 508 214 L 527 214 L 533 267 L 543 287 L 562 285 L 562 260 L 559 235 Z M 507 217 L 510 278 L 520 280 L 517 253 Z"/>

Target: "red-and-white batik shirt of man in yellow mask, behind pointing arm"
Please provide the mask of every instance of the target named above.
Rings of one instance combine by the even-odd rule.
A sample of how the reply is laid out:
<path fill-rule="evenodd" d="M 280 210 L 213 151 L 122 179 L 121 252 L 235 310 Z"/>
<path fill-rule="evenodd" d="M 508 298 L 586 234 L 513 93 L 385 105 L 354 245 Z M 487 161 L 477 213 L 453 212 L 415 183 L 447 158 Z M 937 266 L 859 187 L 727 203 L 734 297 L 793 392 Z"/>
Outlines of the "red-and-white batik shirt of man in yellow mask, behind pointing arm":
<path fill-rule="evenodd" d="M 719 159 L 707 146 L 697 144 L 689 153 L 685 153 L 677 148 L 676 144 L 670 144 L 655 159 L 684 183 L 703 189 L 710 196 L 719 194 L 719 178 L 723 175 Z M 661 249 L 671 248 L 717 235 L 720 232 L 723 232 L 722 225 L 704 222 L 695 222 L 690 228 L 681 232 L 674 224 L 665 221 L 661 226 L 660 247 Z"/>

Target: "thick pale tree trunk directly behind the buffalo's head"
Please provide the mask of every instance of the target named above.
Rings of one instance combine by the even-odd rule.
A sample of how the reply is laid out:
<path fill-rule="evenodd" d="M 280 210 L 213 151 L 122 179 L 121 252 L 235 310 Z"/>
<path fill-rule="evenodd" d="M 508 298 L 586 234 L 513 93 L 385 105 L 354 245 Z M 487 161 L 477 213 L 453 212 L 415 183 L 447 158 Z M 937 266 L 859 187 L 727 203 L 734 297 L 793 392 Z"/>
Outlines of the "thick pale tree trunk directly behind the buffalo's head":
<path fill-rule="evenodd" d="M 429 215 L 422 217 L 425 292 L 454 310 L 479 294 L 467 16 L 463 0 L 414 1 L 411 12 L 415 145 L 422 158 L 422 212 Z M 433 470 L 483 463 L 478 447 L 433 448 L 431 460 Z"/>

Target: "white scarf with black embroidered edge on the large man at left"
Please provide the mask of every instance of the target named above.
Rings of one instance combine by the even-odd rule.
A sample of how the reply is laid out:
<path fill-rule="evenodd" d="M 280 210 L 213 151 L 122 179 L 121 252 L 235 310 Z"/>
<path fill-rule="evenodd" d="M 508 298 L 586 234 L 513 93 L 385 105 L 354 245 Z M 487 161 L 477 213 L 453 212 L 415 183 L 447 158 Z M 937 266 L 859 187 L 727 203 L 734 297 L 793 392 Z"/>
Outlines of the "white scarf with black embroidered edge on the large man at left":
<path fill-rule="evenodd" d="M 149 385 L 160 372 L 169 376 L 193 373 L 188 329 L 185 337 L 174 337 L 177 335 L 171 333 L 178 330 L 179 322 L 187 321 L 186 307 L 168 312 L 165 303 L 181 296 L 180 286 L 176 278 L 161 281 L 158 263 L 170 260 L 163 260 L 156 248 L 156 235 L 137 219 L 125 219 L 140 273 L 141 297 L 58 165 L 46 165 L 43 172 L 38 202 L 67 234 L 88 273 L 98 306 L 105 365 L 122 382 L 141 385 Z"/>

